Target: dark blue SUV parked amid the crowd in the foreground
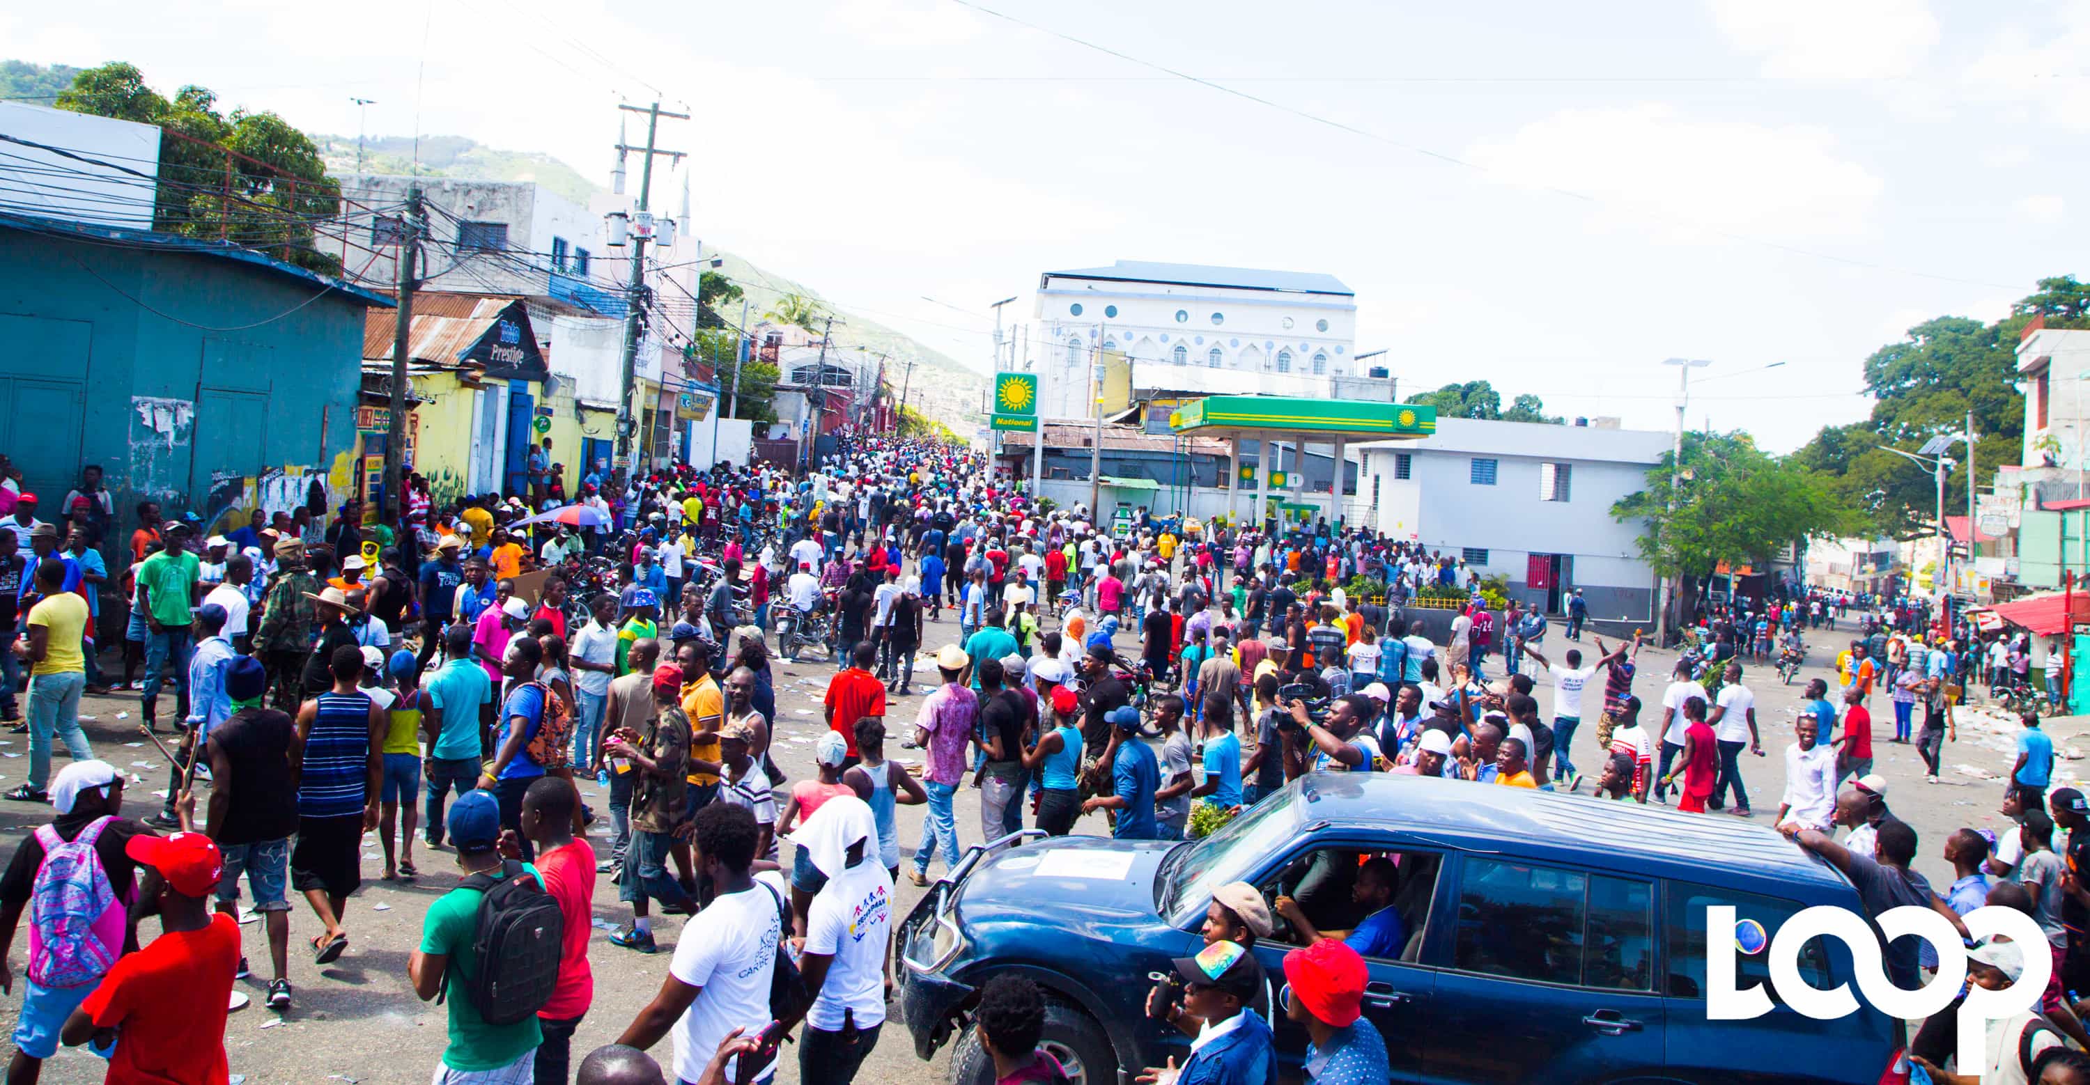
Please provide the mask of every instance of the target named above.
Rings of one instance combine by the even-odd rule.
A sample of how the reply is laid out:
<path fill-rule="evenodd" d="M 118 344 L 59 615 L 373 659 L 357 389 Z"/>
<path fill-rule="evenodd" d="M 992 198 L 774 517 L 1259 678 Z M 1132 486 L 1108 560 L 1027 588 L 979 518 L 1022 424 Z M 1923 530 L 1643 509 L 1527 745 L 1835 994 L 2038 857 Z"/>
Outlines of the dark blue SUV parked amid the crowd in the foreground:
<path fill-rule="evenodd" d="M 1862 911 L 1833 868 L 1776 832 L 1636 803 L 1386 774 L 1300 778 L 1206 840 L 1066 836 L 966 861 L 895 939 L 915 1054 L 957 1041 L 953 1081 L 991 1083 L 970 1010 L 1016 972 L 1047 993 L 1045 1047 L 1087 1085 L 1129 1083 L 1187 1041 L 1145 1016 L 1150 976 L 1200 945 L 1212 891 L 1250 882 L 1300 903 L 1323 934 L 1356 926 L 1365 857 L 1392 857 L 1398 957 L 1367 957 L 1365 1014 L 1394 1081 L 1848 1083 L 1906 1081 L 1896 1026 L 1862 1008 L 1812 1020 L 1776 1006 L 1705 1020 L 1705 909 L 1779 924 L 1812 905 Z M 1751 928 L 1754 930 L 1754 928 Z M 1768 993 L 1768 953 L 1737 953 L 1739 987 Z M 1256 945 L 1273 985 L 1298 934 Z M 1843 943 L 1799 953 L 1814 987 L 1852 983 Z M 1281 1077 L 1306 1033 L 1271 1012 Z M 1776 997 L 1772 993 L 1772 997 Z"/>

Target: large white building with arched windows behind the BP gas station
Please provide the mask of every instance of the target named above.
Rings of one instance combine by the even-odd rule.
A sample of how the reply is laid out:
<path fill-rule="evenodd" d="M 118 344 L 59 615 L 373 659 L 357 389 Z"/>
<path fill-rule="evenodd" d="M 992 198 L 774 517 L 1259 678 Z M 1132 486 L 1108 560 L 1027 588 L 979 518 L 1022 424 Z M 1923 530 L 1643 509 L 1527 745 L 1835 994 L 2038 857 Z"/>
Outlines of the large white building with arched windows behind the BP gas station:
<path fill-rule="evenodd" d="M 1089 416 L 1099 347 L 1131 364 L 1135 395 L 1329 395 L 1373 376 L 1354 364 L 1356 295 L 1327 274 L 1120 259 L 1039 276 L 1035 318 L 1045 418 Z"/>

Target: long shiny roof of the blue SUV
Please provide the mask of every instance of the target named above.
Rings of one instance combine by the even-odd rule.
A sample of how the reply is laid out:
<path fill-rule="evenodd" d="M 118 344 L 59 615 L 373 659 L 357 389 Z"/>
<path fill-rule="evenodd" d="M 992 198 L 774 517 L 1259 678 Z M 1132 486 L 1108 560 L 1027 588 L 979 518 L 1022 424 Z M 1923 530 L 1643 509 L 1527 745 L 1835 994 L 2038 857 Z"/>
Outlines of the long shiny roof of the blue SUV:
<path fill-rule="evenodd" d="M 1465 849 L 1505 845 L 1530 857 L 1582 853 L 1593 870 L 1850 891 L 1822 859 L 1737 817 L 1394 774 L 1310 774 L 1294 786 L 1302 824 L 1381 828 Z"/>

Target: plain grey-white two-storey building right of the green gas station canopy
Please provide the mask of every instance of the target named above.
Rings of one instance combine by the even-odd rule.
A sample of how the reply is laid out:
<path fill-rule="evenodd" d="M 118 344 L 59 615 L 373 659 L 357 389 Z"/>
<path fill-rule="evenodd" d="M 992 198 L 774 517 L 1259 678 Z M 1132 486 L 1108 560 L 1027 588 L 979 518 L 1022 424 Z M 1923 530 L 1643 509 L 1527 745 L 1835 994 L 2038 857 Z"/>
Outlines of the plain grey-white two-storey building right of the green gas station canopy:
<path fill-rule="evenodd" d="M 1350 518 L 1463 556 L 1549 613 L 1580 587 L 1590 619 L 1653 627 L 1645 525 L 1618 523 L 1611 504 L 1645 489 L 1668 447 L 1653 431 L 1438 418 L 1421 441 L 1356 447 Z"/>

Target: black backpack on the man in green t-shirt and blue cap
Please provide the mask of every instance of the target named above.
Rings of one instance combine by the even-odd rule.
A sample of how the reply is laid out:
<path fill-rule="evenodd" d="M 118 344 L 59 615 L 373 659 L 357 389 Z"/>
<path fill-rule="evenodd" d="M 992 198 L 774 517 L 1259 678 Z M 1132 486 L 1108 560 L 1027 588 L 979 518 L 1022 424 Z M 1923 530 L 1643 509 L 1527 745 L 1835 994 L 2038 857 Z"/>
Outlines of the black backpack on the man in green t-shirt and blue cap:
<path fill-rule="evenodd" d="M 479 974 L 466 985 L 472 1008 L 487 1024 L 535 1016 L 558 987 L 566 932 L 558 899 L 514 859 L 502 859 L 497 876 L 472 874 L 458 886 L 481 893 L 479 930 L 472 934 Z"/>

